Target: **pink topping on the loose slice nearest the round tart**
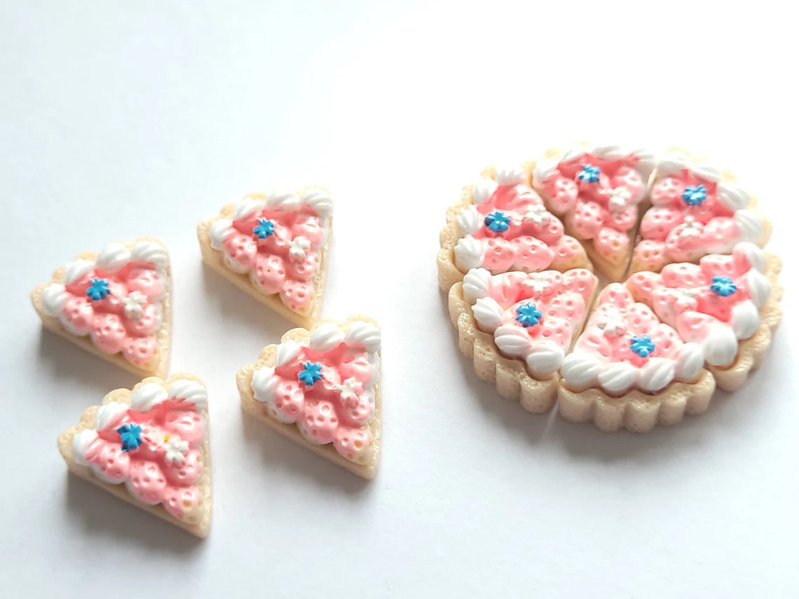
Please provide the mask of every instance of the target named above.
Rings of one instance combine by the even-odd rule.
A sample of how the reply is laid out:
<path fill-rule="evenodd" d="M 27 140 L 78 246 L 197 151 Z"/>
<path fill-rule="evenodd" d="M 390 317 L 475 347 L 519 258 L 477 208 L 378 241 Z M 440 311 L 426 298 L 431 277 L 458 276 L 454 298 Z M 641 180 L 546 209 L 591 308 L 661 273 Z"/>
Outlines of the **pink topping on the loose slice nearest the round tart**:
<path fill-rule="evenodd" d="M 300 380 L 305 363 L 321 365 L 321 379 L 309 386 Z M 341 343 L 329 351 L 301 347 L 275 368 L 274 407 L 317 443 L 333 443 L 351 461 L 372 444 L 369 420 L 374 415 L 376 364 L 363 347 Z"/>

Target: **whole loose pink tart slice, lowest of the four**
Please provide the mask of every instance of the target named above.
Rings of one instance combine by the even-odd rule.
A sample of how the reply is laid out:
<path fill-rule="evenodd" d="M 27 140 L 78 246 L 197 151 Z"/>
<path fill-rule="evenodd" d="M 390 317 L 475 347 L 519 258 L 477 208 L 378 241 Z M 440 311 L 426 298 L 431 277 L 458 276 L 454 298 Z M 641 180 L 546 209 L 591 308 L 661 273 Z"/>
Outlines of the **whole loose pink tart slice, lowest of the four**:
<path fill-rule="evenodd" d="M 70 471 L 197 537 L 211 523 L 208 395 L 194 375 L 105 395 L 58 437 Z"/>

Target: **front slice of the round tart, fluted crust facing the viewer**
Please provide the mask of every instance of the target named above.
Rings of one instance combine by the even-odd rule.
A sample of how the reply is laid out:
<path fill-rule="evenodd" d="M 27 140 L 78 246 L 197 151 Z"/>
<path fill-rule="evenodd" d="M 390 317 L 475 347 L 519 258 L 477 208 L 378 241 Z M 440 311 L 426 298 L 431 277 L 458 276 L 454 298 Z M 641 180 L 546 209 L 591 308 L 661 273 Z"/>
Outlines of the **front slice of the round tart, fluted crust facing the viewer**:
<path fill-rule="evenodd" d="M 698 343 L 683 343 L 620 283 L 602 290 L 560 369 L 560 414 L 634 432 L 705 411 L 715 389 Z"/>

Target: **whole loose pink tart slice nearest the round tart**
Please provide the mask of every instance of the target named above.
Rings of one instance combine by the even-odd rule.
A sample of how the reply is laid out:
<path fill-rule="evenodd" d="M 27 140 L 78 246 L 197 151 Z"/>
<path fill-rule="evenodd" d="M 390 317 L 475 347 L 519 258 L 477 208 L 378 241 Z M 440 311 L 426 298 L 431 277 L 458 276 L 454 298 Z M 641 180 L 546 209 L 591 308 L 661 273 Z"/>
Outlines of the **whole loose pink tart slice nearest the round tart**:
<path fill-rule="evenodd" d="M 236 377 L 244 411 L 362 478 L 380 458 L 380 328 L 368 316 L 296 328 Z"/>

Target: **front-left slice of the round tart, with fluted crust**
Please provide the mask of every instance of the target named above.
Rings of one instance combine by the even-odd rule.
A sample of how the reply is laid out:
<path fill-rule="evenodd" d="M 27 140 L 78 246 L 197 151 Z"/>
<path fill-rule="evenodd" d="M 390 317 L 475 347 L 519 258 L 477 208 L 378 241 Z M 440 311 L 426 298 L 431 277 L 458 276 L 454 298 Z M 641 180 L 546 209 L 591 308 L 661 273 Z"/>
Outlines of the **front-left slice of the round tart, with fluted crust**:
<path fill-rule="evenodd" d="M 449 292 L 459 347 L 477 375 L 531 412 L 555 403 L 557 371 L 579 334 L 597 278 L 585 268 L 566 272 L 467 272 Z"/>

